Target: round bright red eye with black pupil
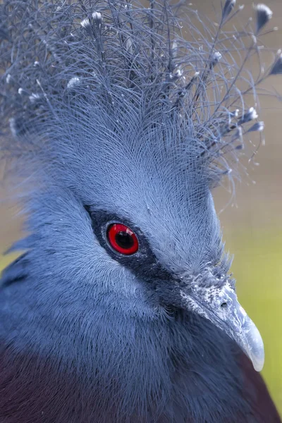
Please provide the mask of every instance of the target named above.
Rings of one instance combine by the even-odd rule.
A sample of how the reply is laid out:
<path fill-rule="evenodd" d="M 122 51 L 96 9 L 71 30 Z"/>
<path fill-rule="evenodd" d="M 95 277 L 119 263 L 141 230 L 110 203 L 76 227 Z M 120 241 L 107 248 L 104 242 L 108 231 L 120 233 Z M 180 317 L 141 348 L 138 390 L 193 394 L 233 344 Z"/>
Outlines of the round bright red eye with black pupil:
<path fill-rule="evenodd" d="M 138 240 L 133 231 L 122 223 L 113 223 L 107 231 L 109 243 L 121 254 L 130 255 L 138 250 Z"/>

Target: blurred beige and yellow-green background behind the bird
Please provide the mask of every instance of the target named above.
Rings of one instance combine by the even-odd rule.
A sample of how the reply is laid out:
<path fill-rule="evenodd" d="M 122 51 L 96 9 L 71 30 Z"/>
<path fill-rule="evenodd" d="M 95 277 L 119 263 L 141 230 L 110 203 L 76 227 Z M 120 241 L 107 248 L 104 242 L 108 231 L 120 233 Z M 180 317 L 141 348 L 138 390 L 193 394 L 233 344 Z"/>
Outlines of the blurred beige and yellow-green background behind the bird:
<path fill-rule="evenodd" d="M 194 5 L 212 16 L 212 4 L 217 0 L 198 0 Z M 282 2 L 267 1 L 274 11 L 269 28 L 280 25 L 265 40 L 271 48 L 282 48 Z M 252 1 L 245 1 L 246 17 L 252 14 Z M 272 78 L 268 87 L 275 87 L 282 95 L 282 75 Z M 226 206 L 230 194 L 218 189 L 214 192 L 216 208 L 220 212 L 223 237 L 227 250 L 235 256 L 232 271 L 237 279 L 238 297 L 247 313 L 262 333 L 265 345 L 265 366 L 262 374 L 282 415 L 282 104 L 261 98 L 266 129 L 265 147 L 256 157 L 259 166 L 250 165 L 249 176 L 236 187 L 235 202 Z M 6 197 L 0 188 L 0 199 Z M 20 219 L 13 219 L 16 207 L 8 207 L 0 200 L 0 257 L 1 252 L 20 236 Z M 0 258 L 0 269 L 11 257 Z M 269 422 L 271 423 L 271 422 Z"/>

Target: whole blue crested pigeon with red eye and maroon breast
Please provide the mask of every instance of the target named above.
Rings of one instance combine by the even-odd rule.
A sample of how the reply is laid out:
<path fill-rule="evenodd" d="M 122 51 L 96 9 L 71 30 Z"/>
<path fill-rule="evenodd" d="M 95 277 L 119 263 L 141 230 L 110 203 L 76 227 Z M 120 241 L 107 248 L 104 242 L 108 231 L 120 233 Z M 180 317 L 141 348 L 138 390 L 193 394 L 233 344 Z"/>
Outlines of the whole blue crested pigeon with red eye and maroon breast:
<path fill-rule="evenodd" d="M 213 199 L 263 142 L 271 9 L 244 26 L 235 0 L 216 21 L 168 0 L 0 8 L 1 163 L 25 215 L 0 422 L 281 422 Z"/>

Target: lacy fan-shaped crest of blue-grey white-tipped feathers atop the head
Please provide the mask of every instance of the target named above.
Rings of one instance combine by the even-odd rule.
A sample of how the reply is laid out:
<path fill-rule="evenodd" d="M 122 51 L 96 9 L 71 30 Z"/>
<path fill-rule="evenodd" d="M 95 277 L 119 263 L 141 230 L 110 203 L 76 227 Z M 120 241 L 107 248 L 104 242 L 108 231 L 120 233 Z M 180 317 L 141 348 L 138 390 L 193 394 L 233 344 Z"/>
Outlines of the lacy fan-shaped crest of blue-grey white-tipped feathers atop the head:
<path fill-rule="evenodd" d="M 257 85 L 282 73 L 280 52 L 262 70 L 258 39 L 271 10 L 255 6 L 255 25 L 248 20 L 235 30 L 242 10 L 235 0 L 221 5 L 217 23 L 183 2 L 150 0 L 148 6 L 127 0 L 4 0 L 4 155 L 56 156 L 75 119 L 121 139 L 126 120 L 142 109 L 142 128 L 154 133 L 170 122 L 178 137 L 173 148 L 183 147 L 187 163 L 206 171 L 209 185 L 231 172 L 244 135 L 264 128 L 255 109 Z M 257 75 L 247 69 L 254 56 Z M 157 142 L 171 148 L 165 133 Z"/>

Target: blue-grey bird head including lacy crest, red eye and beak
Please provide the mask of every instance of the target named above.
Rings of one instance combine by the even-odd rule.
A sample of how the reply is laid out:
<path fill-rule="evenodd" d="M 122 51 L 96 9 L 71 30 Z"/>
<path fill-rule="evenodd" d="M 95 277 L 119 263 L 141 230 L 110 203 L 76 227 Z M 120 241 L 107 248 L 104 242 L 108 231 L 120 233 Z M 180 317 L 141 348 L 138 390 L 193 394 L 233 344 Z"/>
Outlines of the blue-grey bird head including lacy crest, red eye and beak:
<path fill-rule="evenodd" d="M 30 6 L 19 22 L 15 14 L 17 59 L 6 54 L 2 78 L 6 150 L 20 148 L 34 177 L 31 235 L 18 247 L 28 249 L 37 307 L 54 301 L 73 316 L 102 309 L 140 321 L 196 314 L 260 370 L 262 338 L 238 302 L 212 189 L 232 181 L 243 135 L 263 128 L 245 100 L 261 80 L 243 68 L 271 12 L 260 5 L 252 32 L 227 37 L 234 6 L 227 0 L 219 26 L 207 24 L 200 39 L 188 8 L 192 41 L 173 8 L 154 2 Z M 281 71 L 278 56 L 266 76 Z"/>

